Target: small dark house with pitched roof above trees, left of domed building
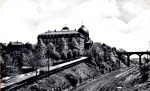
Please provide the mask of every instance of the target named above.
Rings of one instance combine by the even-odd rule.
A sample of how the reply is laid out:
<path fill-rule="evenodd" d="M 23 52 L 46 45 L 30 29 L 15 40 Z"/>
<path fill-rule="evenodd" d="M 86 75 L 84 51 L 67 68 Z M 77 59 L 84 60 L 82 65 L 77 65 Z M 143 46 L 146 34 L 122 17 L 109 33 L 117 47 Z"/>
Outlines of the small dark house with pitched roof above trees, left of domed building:
<path fill-rule="evenodd" d="M 25 45 L 22 42 L 9 42 L 9 44 L 7 45 L 8 49 L 21 49 L 24 48 Z"/>

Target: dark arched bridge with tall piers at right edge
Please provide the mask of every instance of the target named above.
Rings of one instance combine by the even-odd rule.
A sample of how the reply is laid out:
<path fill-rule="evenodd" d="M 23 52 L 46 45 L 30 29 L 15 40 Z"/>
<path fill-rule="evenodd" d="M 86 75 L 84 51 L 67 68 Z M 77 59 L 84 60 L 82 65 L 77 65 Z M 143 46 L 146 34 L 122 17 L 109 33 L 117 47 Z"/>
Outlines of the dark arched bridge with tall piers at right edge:
<path fill-rule="evenodd" d="M 142 65 L 142 56 L 143 55 L 149 55 L 150 56 L 150 51 L 145 51 L 145 52 L 118 52 L 118 56 L 121 57 L 122 55 L 126 55 L 127 56 L 127 66 L 130 66 L 130 56 L 131 55 L 138 55 L 139 56 L 139 66 L 141 67 Z"/>

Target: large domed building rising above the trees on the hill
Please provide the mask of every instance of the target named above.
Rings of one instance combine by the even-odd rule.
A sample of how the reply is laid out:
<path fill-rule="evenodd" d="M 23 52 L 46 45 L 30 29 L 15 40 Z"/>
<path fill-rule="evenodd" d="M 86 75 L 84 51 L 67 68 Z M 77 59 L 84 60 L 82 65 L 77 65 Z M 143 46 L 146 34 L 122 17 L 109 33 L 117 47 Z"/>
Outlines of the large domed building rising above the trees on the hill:
<path fill-rule="evenodd" d="M 41 39 L 46 45 L 52 42 L 57 46 L 57 42 L 60 38 L 65 38 L 68 44 L 72 41 L 72 38 L 75 38 L 80 45 L 80 48 L 84 49 L 87 48 L 86 43 L 89 43 L 89 31 L 84 25 L 78 30 L 70 30 L 65 26 L 61 31 L 48 31 L 38 35 L 38 41 Z"/>

